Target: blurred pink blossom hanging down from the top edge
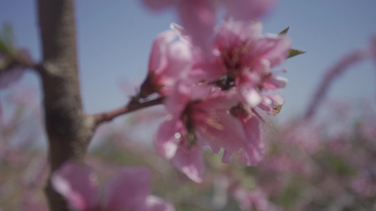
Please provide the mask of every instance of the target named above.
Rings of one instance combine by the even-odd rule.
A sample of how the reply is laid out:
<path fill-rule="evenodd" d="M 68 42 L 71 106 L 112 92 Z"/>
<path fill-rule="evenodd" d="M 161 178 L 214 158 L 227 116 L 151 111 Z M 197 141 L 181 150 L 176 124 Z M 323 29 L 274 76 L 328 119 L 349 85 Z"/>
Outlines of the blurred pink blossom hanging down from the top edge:
<path fill-rule="evenodd" d="M 251 20 L 263 15 L 272 5 L 272 0 L 143 0 L 149 8 L 159 11 L 173 6 L 183 27 L 193 39 L 193 44 L 210 52 L 210 41 L 217 20 L 217 8 L 222 4 L 227 16 L 235 19 Z"/>

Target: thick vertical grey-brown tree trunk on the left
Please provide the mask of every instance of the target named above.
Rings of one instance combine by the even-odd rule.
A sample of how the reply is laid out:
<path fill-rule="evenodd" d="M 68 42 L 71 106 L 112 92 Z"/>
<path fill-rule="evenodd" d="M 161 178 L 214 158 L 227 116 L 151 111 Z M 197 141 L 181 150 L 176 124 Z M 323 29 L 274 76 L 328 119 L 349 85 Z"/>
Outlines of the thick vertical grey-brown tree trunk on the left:
<path fill-rule="evenodd" d="M 37 0 L 43 49 L 42 85 L 51 173 L 63 162 L 83 162 L 95 122 L 81 106 L 74 0 Z M 67 210 L 48 182 L 50 210 Z"/>

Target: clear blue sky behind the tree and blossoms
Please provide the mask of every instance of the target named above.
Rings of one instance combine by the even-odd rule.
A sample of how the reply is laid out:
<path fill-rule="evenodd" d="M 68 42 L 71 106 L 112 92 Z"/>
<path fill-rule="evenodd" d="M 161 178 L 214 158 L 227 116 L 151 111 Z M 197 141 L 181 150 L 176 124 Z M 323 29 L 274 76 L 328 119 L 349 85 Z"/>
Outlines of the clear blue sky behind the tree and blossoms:
<path fill-rule="evenodd" d="M 286 104 L 280 118 L 303 113 L 325 70 L 344 53 L 369 46 L 376 34 L 375 0 L 279 1 L 263 18 L 264 33 L 290 26 L 293 48 L 307 51 L 283 67 L 289 85 L 281 95 Z M 76 2 L 78 53 L 83 103 L 88 113 L 117 108 L 126 102 L 119 84 L 135 87 L 147 72 L 154 37 L 178 22 L 174 11 L 151 13 L 136 0 L 79 0 Z M 1 0 L 0 24 L 11 23 L 18 46 L 41 58 L 37 11 L 34 1 Z M 375 102 L 376 66 L 371 61 L 346 72 L 329 91 L 329 98 L 353 103 L 362 98 Z M 38 84 L 26 74 L 25 84 Z M 1 96 L 1 94 L 0 94 Z"/>

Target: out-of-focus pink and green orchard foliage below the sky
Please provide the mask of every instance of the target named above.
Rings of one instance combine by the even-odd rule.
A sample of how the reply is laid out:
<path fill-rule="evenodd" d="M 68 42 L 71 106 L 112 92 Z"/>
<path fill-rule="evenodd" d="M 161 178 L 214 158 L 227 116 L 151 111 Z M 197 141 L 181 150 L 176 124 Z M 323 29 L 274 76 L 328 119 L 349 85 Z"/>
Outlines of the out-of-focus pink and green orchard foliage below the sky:
<path fill-rule="evenodd" d="M 25 110 L 30 108 L 15 102 L 18 107 L 13 117 L 1 122 L 0 210 L 45 210 L 46 155 L 28 144 L 10 144 L 27 127 L 20 120 L 28 116 Z M 101 184 L 123 166 L 144 166 L 152 170 L 153 194 L 174 203 L 176 210 L 375 209 L 374 110 L 365 110 L 356 118 L 332 114 L 320 124 L 302 120 L 274 124 L 265 131 L 267 155 L 257 167 L 224 164 L 221 155 L 207 149 L 208 169 L 202 184 L 174 170 L 154 153 L 152 144 L 130 137 L 135 128 L 140 133 L 150 129 L 153 121 L 146 118 L 151 124 L 145 123 L 142 116 L 157 119 L 158 114 L 154 109 L 142 111 L 123 124 L 116 122 L 99 130 L 87 164 L 99 174 Z M 35 139 L 38 136 L 30 136 L 25 143 Z"/>

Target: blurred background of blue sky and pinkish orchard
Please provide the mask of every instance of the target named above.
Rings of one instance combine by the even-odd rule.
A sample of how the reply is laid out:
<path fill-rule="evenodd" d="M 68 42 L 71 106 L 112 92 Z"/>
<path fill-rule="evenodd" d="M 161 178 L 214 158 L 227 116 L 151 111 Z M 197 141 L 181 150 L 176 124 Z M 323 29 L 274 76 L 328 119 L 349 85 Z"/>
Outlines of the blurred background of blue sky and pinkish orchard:
<path fill-rule="evenodd" d="M 263 33 L 289 26 L 293 48 L 307 53 L 281 66 L 288 70 L 283 76 L 289 84 L 279 93 L 286 103 L 272 117 L 277 123 L 265 129 L 268 153 L 259 167 L 223 165 L 219 155 L 208 152 L 205 183 L 187 181 L 147 144 L 160 122 L 159 108 L 119 117 L 99 129 L 90 165 L 102 172 L 103 183 L 121 165 L 152 168 L 155 192 L 174 202 L 177 210 L 376 210 L 376 61 L 348 68 L 332 83 L 315 121 L 298 120 L 325 72 L 348 53 L 370 48 L 375 9 L 374 0 L 290 0 L 279 1 L 262 18 Z M 152 13 L 140 1 L 120 0 L 77 1 L 76 11 L 85 110 L 118 108 L 135 94 L 146 75 L 154 37 L 178 22 L 176 14 Z M 0 0 L 4 23 L 13 27 L 17 46 L 40 60 L 35 2 Z M 45 209 L 40 187 L 47 164 L 39 88 L 37 75 L 26 72 L 20 82 L 0 91 L 0 210 Z M 150 116 L 155 121 L 143 119 Z M 171 184 L 183 185 L 176 190 Z"/>

